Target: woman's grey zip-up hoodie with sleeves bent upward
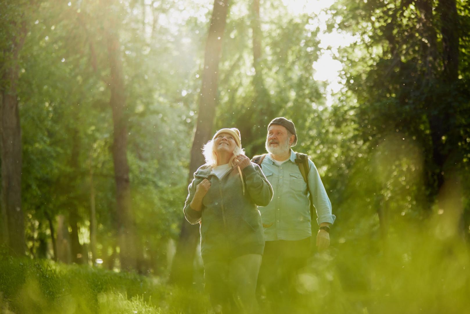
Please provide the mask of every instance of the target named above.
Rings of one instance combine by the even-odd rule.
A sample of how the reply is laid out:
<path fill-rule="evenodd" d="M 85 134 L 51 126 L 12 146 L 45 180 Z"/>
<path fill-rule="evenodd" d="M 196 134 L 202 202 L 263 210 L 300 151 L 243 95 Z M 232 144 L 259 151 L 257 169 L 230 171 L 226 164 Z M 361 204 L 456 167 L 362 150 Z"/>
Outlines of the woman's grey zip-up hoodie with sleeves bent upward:
<path fill-rule="evenodd" d="M 244 168 L 242 173 L 243 181 L 237 167 L 219 179 L 211 174 L 210 166 L 203 165 L 196 170 L 188 187 L 184 215 L 193 225 L 201 223 L 204 263 L 245 254 L 263 254 L 265 241 L 258 206 L 269 204 L 273 188 L 255 163 Z M 204 179 L 211 181 L 211 187 L 204 196 L 202 210 L 196 211 L 189 204 L 196 186 Z"/>

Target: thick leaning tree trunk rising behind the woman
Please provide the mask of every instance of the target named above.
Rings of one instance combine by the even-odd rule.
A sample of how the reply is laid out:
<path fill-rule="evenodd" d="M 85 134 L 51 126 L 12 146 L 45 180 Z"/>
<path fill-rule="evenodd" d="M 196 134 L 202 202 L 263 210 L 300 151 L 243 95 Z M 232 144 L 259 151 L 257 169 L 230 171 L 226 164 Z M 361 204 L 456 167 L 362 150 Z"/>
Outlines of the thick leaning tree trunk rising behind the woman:
<path fill-rule="evenodd" d="M 202 76 L 201 97 L 199 98 L 199 112 L 191 148 L 191 161 L 189 164 L 189 180 L 192 180 L 196 169 L 204 164 L 201 153 L 202 146 L 211 139 L 215 107 L 218 102 L 219 60 L 222 50 L 222 40 L 227 24 L 229 0 L 215 0 L 212 10 L 211 24 L 204 54 L 204 70 Z M 178 240 L 176 254 L 173 259 L 170 281 L 182 285 L 190 284 L 193 280 L 193 261 L 199 238 L 199 225 L 190 225 L 182 219 L 181 233 Z"/>

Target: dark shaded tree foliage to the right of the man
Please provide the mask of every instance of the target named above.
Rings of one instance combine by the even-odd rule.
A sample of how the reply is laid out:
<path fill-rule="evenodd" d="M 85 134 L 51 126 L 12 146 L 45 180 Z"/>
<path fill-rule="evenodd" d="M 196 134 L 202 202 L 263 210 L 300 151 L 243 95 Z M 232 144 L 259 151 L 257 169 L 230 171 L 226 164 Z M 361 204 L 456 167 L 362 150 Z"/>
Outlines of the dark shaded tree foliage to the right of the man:
<path fill-rule="evenodd" d="M 448 210 L 441 199 L 454 197 L 445 192 L 452 183 L 463 200 L 455 204 L 462 211 L 458 228 L 468 234 L 467 7 L 456 1 L 459 18 L 450 22 L 443 20 L 445 6 L 432 1 L 345 0 L 329 11 L 330 29 L 357 38 L 339 51 L 345 87 L 332 112 L 347 141 L 334 182 L 341 212 L 361 198 L 387 230 L 400 215 L 421 221 L 431 209 Z M 453 78 L 446 29 L 460 38 Z"/>

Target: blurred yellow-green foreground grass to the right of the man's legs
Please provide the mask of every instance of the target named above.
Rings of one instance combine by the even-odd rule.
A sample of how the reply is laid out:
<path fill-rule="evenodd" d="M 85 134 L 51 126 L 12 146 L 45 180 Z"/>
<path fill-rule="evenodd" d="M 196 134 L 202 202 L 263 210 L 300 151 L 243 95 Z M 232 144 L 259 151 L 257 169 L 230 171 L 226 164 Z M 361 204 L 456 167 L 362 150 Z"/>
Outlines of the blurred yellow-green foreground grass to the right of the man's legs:
<path fill-rule="evenodd" d="M 465 313 L 470 255 L 462 239 L 442 241 L 432 224 L 394 228 L 401 232 L 386 242 L 358 239 L 315 255 L 298 275 L 297 313 Z"/>

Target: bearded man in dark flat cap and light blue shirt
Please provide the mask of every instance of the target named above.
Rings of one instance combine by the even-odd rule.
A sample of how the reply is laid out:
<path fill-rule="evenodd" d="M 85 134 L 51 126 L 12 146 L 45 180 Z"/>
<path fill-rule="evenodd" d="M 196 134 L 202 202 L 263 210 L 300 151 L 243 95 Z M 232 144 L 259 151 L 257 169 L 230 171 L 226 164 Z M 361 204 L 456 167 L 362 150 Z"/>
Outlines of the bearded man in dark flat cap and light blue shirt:
<path fill-rule="evenodd" d="M 329 228 L 336 218 L 317 168 L 306 155 L 291 149 L 296 144 L 294 123 L 275 118 L 268 125 L 268 153 L 252 159 L 274 190 L 269 205 L 259 207 L 266 240 L 259 282 L 271 298 L 293 292 L 297 271 L 310 253 L 313 206 L 320 226 L 318 250 L 328 248 Z"/>

